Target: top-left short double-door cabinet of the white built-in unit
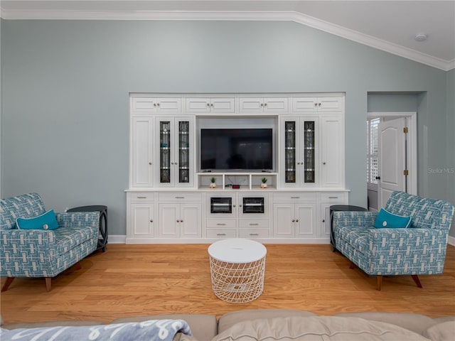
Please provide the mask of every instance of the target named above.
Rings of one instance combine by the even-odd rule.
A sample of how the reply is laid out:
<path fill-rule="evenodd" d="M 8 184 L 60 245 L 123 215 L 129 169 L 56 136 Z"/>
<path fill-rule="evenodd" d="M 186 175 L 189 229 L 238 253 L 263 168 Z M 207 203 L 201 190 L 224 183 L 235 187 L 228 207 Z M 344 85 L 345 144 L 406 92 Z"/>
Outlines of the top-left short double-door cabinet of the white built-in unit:
<path fill-rule="evenodd" d="M 181 97 L 133 97 L 131 106 L 134 114 L 180 114 L 182 99 Z"/>

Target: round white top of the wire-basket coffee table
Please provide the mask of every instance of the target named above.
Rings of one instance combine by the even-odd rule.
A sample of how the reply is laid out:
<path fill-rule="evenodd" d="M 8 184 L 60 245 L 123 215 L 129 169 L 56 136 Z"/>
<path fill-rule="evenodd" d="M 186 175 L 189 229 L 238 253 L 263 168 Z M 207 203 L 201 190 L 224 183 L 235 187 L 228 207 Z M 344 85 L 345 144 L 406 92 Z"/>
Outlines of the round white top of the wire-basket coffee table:
<path fill-rule="evenodd" d="M 251 239 L 223 239 L 208 247 L 208 254 L 226 263 L 251 263 L 259 261 L 267 254 L 267 249 Z"/>

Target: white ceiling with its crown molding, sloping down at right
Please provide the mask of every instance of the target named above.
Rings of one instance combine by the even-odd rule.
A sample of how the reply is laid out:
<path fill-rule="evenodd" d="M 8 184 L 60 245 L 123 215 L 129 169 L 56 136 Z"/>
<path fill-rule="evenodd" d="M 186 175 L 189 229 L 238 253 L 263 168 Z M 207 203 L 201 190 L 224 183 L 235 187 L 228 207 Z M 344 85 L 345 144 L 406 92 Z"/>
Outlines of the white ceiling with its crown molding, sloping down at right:
<path fill-rule="evenodd" d="M 289 20 L 442 70 L 455 68 L 455 0 L 1 0 L 6 19 Z M 426 33 L 423 42 L 414 40 Z"/>

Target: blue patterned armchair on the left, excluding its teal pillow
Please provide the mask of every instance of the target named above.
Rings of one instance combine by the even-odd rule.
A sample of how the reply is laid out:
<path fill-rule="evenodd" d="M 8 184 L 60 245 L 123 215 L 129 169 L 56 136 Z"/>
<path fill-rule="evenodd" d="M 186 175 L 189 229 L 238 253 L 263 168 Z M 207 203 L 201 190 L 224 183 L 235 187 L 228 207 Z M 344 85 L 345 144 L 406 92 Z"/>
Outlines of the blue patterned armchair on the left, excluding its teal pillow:
<path fill-rule="evenodd" d="M 0 274 L 7 277 L 6 291 L 15 277 L 44 277 L 47 291 L 51 278 L 68 269 L 97 248 L 100 212 L 58 213 L 58 228 L 17 229 L 16 218 L 45 213 L 36 193 L 0 200 Z"/>

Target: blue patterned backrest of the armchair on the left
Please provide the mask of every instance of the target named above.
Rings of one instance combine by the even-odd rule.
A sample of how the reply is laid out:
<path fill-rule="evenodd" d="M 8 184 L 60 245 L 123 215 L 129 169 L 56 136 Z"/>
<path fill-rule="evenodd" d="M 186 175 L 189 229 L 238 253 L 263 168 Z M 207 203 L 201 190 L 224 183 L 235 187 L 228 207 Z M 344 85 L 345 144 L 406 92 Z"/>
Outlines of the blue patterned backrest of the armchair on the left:
<path fill-rule="evenodd" d="M 45 213 L 43 200 L 37 193 L 0 200 L 0 229 L 15 229 L 16 218 L 32 218 Z"/>

